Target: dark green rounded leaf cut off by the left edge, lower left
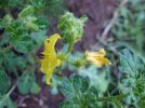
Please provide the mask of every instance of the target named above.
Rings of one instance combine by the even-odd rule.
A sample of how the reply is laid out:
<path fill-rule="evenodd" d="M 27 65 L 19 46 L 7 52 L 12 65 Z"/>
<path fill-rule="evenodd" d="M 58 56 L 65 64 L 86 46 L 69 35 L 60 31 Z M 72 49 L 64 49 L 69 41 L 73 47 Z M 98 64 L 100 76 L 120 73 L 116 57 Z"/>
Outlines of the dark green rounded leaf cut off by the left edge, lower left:
<path fill-rule="evenodd" d="M 0 69 L 0 95 L 8 92 L 11 85 L 10 78 L 5 73 L 4 69 Z"/>

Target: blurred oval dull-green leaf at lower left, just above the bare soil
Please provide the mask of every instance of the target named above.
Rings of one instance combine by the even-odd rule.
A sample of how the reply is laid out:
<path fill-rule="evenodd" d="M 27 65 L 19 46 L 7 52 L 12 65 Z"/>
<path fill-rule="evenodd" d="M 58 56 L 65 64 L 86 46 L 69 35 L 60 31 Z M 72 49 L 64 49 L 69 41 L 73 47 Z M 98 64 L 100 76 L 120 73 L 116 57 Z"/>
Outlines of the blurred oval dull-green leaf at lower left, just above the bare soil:
<path fill-rule="evenodd" d="M 27 72 L 29 72 L 29 71 L 27 71 Z M 25 75 L 25 76 L 22 76 L 18 79 L 18 81 L 17 81 L 17 89 L 18 89 L 18 91 L 19 91 L 19 93 L 22 95 L 26 95 L 26 94 L 28 94 L 30 92 L 34 83 L 35 83 L 35 78 L 29 76 L 29 75 Z"/>

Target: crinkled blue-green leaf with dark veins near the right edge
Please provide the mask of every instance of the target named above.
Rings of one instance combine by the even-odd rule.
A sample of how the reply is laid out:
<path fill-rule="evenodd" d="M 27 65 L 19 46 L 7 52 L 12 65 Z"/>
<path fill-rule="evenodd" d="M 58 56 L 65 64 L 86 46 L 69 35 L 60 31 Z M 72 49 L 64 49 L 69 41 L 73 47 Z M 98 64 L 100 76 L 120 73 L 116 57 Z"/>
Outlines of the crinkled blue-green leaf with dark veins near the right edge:
<path fill-rule="evenodd" d="M 124 49 L 119 52 L 121 72 L 131 76 L 137 76 L 141 70 L 144 70 L 144 62 L 139 56 L 134 55 L 130 50 Z"/>

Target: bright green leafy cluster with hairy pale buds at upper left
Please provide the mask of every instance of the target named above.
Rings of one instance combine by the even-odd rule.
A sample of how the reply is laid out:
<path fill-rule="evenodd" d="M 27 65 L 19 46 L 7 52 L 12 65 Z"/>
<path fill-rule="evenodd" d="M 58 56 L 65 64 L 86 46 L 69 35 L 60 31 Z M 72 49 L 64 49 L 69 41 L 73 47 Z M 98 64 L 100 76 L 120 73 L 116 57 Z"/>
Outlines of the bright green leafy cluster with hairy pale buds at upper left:
<path fill-rule="evenodd" d="M 36 42 L 34 38 L 30 37 L 30 33 L 41 29 L 38 27 L 40 25 L 37 24 L 38 18 L 32 16 L 32 6 L 28 5 L 18 14 L 17 19 L 13 19 L 8 15 L 2 19 L 2 24 L 4 24 L 2 27 L 5 28 L 3 37 L 8 37 L 9 44 L 14 46 L 14 49 L 18 52 L 31 52 L 36 45 Z M 4 22 L 8 22 L 8 24 L 5 25 Z"/>

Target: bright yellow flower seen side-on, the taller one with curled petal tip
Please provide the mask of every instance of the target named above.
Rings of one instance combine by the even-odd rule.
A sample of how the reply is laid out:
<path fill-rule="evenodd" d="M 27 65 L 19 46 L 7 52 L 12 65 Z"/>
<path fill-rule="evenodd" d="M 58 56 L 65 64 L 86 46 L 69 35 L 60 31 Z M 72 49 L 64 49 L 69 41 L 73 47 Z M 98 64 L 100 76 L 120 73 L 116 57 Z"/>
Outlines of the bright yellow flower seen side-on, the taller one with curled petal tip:
<path fill-rule="evenodd" d="M 61 36 L 55 33 L 51 36 L 49 39 L 44 40 L 44 50 L 41 53 L 43 55 L 43 58 L 40 59 L 41 67 L 40 70 L 45 73 L 47 84 L 51 84 L 51 76 L 53 73 L 53 70 L 55 67 L 61 65 L 61 60 L 56 56 L 55 52 L 55 43 L 56 41 L 61 39 Z"/>

